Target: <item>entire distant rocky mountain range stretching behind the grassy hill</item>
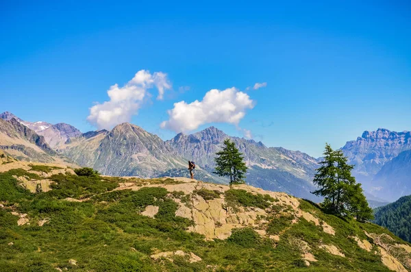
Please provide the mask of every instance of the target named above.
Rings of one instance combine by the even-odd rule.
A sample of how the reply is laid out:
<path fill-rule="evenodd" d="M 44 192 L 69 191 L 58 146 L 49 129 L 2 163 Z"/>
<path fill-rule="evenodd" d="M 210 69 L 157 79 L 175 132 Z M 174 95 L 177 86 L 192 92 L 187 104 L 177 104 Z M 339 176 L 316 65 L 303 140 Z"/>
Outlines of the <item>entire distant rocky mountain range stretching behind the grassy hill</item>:
<path fill-rule="evenodd" d="M 223 184 L 228 181 L 212 173 L 214 154 L 225 138 L 231 138 L 245 156 L 248 184 L 320 200 L 310 192 L 315 189 L 312 177 L 321 158 L 232 137 L 216 127 L 190 135 L 180 133 L 164 141 L 130 123 L 116 125 L 110 132 L 103 129 L 83 134 L 66 123 L 32 123 L 10 112 L 0 114 L 0 121 L 0 149 L 19 160 L 52 162 L 58 158 L 92 167 L 104 175 L 139 177 L 188 175 L 187 161 L 194 160 L 197 178 Z M 12 131 L 16 131 L 14 136 L 10 136 Z M 377 129 L 364 132 L 342 148 L 349 162 L 356 165 L 353 174 L 362 182 L 373 206 L 411 193 L 410 134 Z M 18 148 L 16 141 L 21 142 Z M 398 175 L 398 171 L 403 174 Z"/>

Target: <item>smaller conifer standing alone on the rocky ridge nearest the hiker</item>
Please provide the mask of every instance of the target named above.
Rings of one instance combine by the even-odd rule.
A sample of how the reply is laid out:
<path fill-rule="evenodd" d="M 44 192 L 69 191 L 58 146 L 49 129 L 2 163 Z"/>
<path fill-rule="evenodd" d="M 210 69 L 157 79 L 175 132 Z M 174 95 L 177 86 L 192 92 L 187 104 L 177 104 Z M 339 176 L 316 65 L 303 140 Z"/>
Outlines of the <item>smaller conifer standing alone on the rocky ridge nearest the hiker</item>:
<path fill-rule="evenodd" d="M 224 140 L 223 150 L 216 153 L 214 158 L 216 168 L 214 173 L 221 177 L 229 177 L 229 183 L 245 183 L 245 173 L 247 166 L 242 153 L 238 151 L 236 145 L 228 138 Z"/>

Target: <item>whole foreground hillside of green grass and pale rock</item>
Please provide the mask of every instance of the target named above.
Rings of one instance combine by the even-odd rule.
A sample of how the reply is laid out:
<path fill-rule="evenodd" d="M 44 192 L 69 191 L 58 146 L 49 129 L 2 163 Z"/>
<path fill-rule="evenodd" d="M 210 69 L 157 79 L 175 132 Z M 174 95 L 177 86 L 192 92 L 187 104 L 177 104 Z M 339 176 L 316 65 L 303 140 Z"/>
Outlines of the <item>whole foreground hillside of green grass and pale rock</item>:
<path fill-rule="evenodd" d="M 0 271 L 390 271 L 378 245 L 397 243 L 400 261 L 410 261 L 406 243 L 383 227 L 284 193 L 178 178 L 50 176 L 58 169 L 45 170 L 51 190 L 25 190 L 45 179 L 43 170 L 0 173 Z"/>

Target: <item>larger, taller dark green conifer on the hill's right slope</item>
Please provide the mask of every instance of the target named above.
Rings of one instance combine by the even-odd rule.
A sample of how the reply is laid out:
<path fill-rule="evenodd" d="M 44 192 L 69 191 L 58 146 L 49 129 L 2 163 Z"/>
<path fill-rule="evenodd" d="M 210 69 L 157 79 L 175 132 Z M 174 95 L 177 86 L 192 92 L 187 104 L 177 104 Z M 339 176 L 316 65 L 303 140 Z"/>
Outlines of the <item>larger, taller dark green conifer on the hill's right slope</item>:
<path fill-rule="evenodd" d="M 347 161 L 343 151 L 334 151 L 325 144 L 324 160 L 313 180 L 319 189 L 313 193 L 324 197 L 323 206 L 332 214 L 357 217 L 359 221 L 371 219 L 373 212 L 361 184 L 351 175 L 353 165 Z"/>

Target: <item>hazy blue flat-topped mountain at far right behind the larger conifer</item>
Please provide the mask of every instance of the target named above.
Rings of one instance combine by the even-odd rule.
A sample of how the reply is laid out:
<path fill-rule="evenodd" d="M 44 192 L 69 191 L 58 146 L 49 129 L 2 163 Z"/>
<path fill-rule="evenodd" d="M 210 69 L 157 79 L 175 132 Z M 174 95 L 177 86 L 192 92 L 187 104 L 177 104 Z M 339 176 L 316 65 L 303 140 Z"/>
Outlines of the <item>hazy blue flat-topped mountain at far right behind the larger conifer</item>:
<path fill-rule="evenodd" d="M 353 175 L 358 182 L 376 197 L 395 201 L 410 192 L 411 176 L 396 171 L 411 165 L 407 153 L 400 156 L 411 150 L 411 132 L 365 131 L 357 140 L 347 142 L 342 150 L 349 163 L 355 165 Z M 397 178 L 399 175 L 401 180 Z"/>

